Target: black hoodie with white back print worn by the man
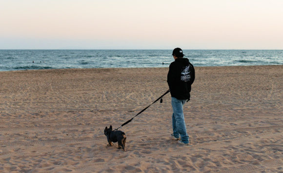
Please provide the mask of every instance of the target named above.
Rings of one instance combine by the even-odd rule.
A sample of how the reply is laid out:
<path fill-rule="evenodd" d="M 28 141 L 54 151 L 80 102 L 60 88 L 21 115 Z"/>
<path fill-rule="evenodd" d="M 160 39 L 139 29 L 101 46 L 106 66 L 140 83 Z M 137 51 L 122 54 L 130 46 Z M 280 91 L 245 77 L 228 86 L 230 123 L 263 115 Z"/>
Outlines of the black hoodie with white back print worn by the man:
<path fill-rule="evenodd" d="M 194 80 L 195 69 L 188 58 L 177 58 L 170 64 L 167 83 L 172 97 L 190 99 L 191 85 Z"/>

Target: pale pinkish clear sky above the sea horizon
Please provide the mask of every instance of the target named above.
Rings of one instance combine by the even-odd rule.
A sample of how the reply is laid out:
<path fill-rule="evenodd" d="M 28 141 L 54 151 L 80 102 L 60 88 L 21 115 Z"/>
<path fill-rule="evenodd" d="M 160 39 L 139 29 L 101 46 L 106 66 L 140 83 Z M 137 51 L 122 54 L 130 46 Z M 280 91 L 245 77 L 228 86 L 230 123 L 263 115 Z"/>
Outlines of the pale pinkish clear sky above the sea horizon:
<path fill-rule="evenodd" d="M 0 49 L 283 49 L 283 0 L 0 0 Z"/>

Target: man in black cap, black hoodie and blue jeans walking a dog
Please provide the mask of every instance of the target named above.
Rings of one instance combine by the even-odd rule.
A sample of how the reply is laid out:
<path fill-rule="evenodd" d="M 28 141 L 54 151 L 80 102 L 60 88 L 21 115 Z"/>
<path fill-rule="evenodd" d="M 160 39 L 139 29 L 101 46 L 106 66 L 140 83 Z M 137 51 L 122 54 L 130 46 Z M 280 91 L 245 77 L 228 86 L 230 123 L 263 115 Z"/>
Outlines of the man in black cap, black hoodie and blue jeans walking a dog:
<path fill-rule="evenodd" d="M 172 139 L 179 140 L 181 136 L 181 140 L 178 143 L 189 145 L 183 105 L 190 99 L 191 85 L 195 80 L 195 69 L 188 58 L 183 58 L 184 55 L 181 48 L 175 48 L 172 55 L 175 61 L 170 64 L 167 75 L 173 108 L 173 134 L 171 137 Z"/>

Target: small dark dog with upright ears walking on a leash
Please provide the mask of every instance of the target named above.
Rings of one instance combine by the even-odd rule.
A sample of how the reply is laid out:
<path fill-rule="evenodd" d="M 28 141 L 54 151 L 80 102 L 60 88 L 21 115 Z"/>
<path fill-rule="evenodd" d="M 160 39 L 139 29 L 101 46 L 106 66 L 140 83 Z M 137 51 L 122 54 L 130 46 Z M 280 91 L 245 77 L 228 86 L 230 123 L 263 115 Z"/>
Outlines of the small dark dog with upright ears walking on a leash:
<path fill-rule="evenodd" d="M 113 142 L 118 142 L 119 149 L 125 150 L 126 144 L 126 134 L 120 130 L 112 131 L 112 126 L 110 125 L 109 129 L 105 127 L 104 135 L 107 136 L 107 140 L 110 146 L 113 146 Z"/>

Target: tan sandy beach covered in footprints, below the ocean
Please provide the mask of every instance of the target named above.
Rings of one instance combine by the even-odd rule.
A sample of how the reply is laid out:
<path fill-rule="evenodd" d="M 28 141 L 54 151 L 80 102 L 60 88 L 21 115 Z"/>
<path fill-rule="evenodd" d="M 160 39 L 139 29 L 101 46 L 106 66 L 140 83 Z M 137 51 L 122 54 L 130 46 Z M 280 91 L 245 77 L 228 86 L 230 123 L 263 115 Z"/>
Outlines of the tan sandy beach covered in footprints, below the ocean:
<path fill-rule="evenodd" d="M 0 72 L 0 173 L 283 172 L 283 66 L 196 67 L 172 140 L 168 68 Z"/>

